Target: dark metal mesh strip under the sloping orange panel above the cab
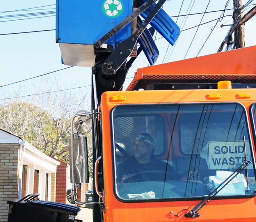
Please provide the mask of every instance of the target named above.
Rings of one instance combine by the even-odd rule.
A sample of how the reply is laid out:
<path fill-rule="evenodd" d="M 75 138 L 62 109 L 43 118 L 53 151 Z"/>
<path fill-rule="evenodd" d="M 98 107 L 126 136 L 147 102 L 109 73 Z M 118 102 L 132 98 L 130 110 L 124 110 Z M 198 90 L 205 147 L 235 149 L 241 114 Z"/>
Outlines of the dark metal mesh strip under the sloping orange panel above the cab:
<path fill-rule="evenodd" d="M 147 90 L 150 84 L 163 83 L 217 83 L 218 81 L 229 80 L 232 83 L 256 83 L 256 75 L 145 75 L 143 79 L 134 80 L 128 90 Z"/>

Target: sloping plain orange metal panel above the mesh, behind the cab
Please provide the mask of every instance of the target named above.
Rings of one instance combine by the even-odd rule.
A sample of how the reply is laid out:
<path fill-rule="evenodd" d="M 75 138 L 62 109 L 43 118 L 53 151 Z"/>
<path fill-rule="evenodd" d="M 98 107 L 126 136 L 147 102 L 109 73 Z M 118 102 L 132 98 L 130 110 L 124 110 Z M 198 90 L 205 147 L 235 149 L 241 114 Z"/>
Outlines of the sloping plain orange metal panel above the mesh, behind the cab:
<path fill-rule="evenodd" d="M 143 74 L 256 74 L 256 46 L 141 68 Z"/>

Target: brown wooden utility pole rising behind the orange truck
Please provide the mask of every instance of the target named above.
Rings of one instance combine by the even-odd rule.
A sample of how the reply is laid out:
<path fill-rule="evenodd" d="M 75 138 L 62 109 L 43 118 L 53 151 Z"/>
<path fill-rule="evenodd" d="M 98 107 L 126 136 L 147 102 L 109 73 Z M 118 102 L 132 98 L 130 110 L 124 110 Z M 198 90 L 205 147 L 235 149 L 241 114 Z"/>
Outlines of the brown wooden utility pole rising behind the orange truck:
<path fill-rule="evenodd" d="M 239 21 L 243 17 L 243 0 L 234 0 L 233 2 L 234 11 L 233 11 L 233 19 L 234 24 Z M 244 24 L 238 26 L 234 31 L 234 48 L 243 48 L 245 46 L 245 39 L 244 39 Z"/>

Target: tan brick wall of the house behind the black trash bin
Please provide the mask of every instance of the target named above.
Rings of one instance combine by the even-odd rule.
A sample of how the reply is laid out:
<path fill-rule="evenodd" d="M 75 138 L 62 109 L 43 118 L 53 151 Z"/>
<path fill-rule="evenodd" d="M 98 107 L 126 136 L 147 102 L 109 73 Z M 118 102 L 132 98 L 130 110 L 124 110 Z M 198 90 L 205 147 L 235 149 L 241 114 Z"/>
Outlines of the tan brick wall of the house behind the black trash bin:
<path fill-rule="evenodd" d="M 0 221 L 8 221 L 7 200 L 18 198 L 19 144 L 0 143 Z"/>

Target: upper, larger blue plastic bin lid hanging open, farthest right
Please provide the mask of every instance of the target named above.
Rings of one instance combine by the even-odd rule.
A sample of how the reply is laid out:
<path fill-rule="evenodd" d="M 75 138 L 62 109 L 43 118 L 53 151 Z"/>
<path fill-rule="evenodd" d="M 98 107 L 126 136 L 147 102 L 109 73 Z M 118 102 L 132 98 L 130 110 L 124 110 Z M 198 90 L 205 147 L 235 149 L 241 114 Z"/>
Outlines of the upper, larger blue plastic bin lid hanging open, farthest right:
<path fill-rule="evenodd" d="M 139 6 L 143 5 L 147 0 L 138 0 Z M 141 16 L 145 19 L 152 11 L 156 3 L 150 6 L 147 10 L 141 13 Z M 179 26 L 170 18 L 170 16 L 163 10 L 160 9 L 154 19 L 150 22 L 150 25 L 161 34 L 172 46 L 180 35 Z"/>

